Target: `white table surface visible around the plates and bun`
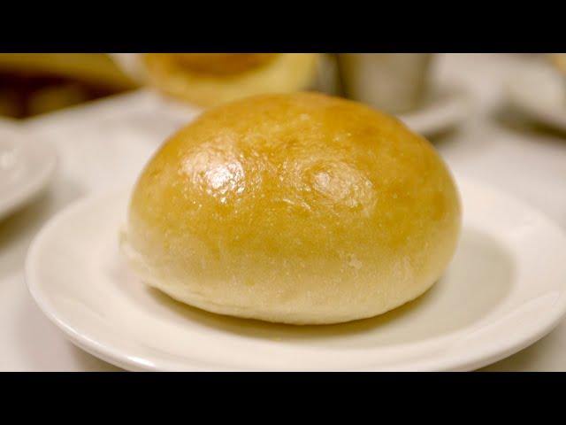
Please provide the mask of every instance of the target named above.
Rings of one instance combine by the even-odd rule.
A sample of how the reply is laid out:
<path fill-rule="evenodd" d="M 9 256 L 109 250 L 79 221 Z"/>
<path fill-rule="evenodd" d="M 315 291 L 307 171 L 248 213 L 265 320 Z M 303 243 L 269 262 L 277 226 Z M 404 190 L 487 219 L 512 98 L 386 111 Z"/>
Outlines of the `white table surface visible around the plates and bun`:
<path fill-rule="evenodd" d="M 566 228 L 566 135 L 513 112 L 503 96 L 506 78 L 528 60 L 439 55 L 436 79 L 463 81 L 474 108 L 460 128 L 432 143 L 453 169 L 515 194 Z M 0 370 L 119 370 L 76 348 L 43 316 L 27 292 L 24 260 L 46 220 L 79 197 L 133 182 L 164 137 L 196 113 L 169 105 L 140 91 L 17 124 L 34 143 L 54 145 L 59 158 L 50 188 L 0 222 Z M 566 370 L 565 354 L 562 321 L 536 344 L 483 370 Z"/>

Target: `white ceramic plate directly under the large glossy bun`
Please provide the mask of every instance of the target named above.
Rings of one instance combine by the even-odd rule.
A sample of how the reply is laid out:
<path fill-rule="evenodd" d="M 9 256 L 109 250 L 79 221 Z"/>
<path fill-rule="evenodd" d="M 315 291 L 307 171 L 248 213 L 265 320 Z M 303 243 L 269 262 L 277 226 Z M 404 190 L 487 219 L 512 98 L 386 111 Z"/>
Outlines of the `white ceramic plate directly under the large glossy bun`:
<path fill-rule="evenodd" d="M 549 332 L 566 309 L 566 236 L 540 213 L 459 180 L 463 236 L 445 276 L 373 319 L 294 327 L 206 313 L 147 288 L 121 259 L 128 191 L 88 197 L 27 256 L 36 303 L 87 352 L 130 370 L 470 370 Z"/>

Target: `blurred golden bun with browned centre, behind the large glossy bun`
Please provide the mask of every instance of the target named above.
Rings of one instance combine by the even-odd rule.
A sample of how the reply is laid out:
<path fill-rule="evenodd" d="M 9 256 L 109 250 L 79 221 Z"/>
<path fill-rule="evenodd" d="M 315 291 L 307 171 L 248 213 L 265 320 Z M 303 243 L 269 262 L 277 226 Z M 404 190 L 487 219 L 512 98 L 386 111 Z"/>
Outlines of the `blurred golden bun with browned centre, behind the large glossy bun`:
<path fill-rule="evenodd" d="M 317 53 L 144 53 L 113 55 L 141 82 L 211 106 L 260 93 L 313 88 Z"/>

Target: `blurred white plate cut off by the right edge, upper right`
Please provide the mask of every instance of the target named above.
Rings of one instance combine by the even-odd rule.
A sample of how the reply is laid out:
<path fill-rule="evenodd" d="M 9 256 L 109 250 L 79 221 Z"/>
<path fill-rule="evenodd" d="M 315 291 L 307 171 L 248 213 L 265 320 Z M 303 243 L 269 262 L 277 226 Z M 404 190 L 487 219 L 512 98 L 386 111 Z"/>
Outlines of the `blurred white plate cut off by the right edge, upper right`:
<path fill-rule="evenodd" d="M 509 102 L 547 126 L 566 131 L 566 76 L 546 62 L 533 62 L 509 76 Z"/>

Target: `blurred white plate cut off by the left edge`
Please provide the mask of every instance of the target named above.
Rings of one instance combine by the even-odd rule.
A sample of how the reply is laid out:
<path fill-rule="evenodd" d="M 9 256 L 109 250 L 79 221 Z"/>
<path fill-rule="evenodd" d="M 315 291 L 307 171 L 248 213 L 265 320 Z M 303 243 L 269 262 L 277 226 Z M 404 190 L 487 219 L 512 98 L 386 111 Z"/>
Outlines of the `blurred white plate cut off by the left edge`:
<path fill-rule="evenodd" d="M 48 145 L 0 128 L 0 220 L 45 188 L 56 162 Z"/>

